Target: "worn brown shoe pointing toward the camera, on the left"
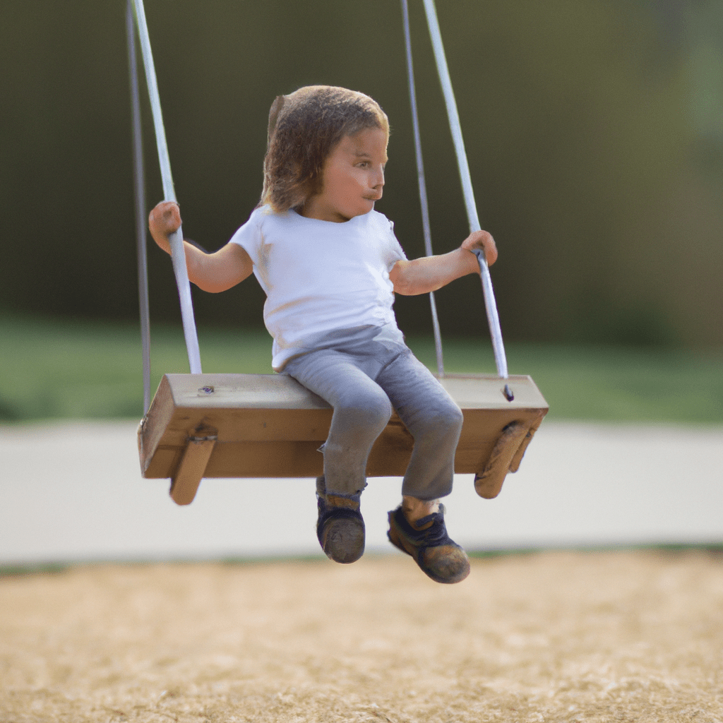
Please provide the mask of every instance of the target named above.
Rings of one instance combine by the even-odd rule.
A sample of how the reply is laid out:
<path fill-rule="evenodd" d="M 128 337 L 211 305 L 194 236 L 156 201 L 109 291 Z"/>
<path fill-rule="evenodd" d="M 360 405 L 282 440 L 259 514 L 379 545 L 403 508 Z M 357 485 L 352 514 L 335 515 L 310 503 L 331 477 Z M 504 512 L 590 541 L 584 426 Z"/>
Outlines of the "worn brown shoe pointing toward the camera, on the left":
<path fill-rule="evenodd" d="M 357 495 L 328 495 L 323 477 L 317 479 L 317 538 L 334 562 L 348 565 L 364 555 L 364 518 L 359 511 L 361 492 Z"/>

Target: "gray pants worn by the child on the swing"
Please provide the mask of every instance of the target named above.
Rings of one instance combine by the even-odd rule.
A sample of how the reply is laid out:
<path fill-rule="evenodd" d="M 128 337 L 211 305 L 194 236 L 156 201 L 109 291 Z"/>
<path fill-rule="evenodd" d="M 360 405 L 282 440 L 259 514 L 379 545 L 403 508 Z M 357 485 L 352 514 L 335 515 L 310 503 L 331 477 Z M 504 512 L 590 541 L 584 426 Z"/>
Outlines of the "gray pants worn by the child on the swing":
<path fill-rule="evenodd" d="M 334 409 L 323 447 L 328 492 L 354 495 L 366 487 L 367 458 L 394 408 L 414 437 L 402 494 L 450 494 L 462 412 L 403 343 L 320 348 L 288 361 L 283 373 Z"/>

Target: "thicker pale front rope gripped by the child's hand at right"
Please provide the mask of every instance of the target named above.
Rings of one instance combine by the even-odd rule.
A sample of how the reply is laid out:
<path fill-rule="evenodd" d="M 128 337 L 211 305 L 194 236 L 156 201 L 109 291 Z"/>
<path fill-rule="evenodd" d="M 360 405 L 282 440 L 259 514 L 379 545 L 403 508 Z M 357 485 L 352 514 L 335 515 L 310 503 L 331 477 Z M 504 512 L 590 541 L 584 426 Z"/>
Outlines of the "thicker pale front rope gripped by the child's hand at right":
<path fill-rule="evenodd" d="M 435 52 L 437 74 L 440 77 L 442 93 L 445 97 L 445 106 L 447 106 L 450 131 L 452 132 L 452 140 L 454 142 L 455 153 L 457 155 L 457 165 L 459 166 L 459 175 L 462 181 L 464 203 L 467 209 L 467 218 L 469 220 L 469 230 L 470 232 L 479 231 L 482 227 L 479 225 L 477 208 L 474 202 L 474 191 L 472 190 L 472 179 L 469 174 L 469 163 L 467 163 L 467 155 L 464 150 L 462 128 L 459 122 L 457 103 L 455 102 L 454 92 L 452 90 L 452 80 L 450 79 L 450 72 L 447 67 L 445 48 L 442 46 L 442 34 L 440 33 L 440 23 L 437 20 L 437 11 L 435 10 L 434 0 L 424 0 L 424 11 L 427 14 L 427 26 L 429 27 L 429 35 L 432 38 L 432 49 Z M 508 379 L 509 375 L 507 371 L 505 345 L 502 342 L 500 317 L 497 314 L 495 291 L 492 289 L 492 278 L 489 276 L 489 268 L 487 268 L 487 261 L 484 258 L 484 252 L 479 250 L 476 251 L 475 254 L 477 261 L 479 262 L 479 270 L 482 275 L 484 307 L 487 309 L 487 323 L 489 325 L 489 335 L 492 337 L 492 348 L 495 351 L 497 375 L 502 377 L 502 379 Z M 513 400 L 514 397 L 512 390 L 510 390 L 510 385 L 505 384 L 504 393 L 505 398 L 507 398 L 508 401 Z"/>

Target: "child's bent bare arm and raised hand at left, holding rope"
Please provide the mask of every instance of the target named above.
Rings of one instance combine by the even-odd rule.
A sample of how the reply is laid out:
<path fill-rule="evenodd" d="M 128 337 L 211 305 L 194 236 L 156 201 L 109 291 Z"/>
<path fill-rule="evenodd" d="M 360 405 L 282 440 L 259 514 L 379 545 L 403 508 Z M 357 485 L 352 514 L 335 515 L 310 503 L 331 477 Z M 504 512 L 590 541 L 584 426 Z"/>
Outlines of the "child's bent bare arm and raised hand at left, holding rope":
<path fill-rule="evenodd" d="M 153 240 L 170 254 L 168 235 L 181 226 L 181 212 L 177 203 L 163 201 L 148 216 Z M 188 278 L 203 291 L 226 291 L 244 281 L 254 270 L 254 263 L 246 249 L 239 244 L 226 244 L 213 254 L 206 254 L 184 241 Z"/>

